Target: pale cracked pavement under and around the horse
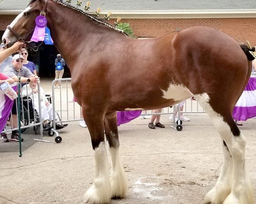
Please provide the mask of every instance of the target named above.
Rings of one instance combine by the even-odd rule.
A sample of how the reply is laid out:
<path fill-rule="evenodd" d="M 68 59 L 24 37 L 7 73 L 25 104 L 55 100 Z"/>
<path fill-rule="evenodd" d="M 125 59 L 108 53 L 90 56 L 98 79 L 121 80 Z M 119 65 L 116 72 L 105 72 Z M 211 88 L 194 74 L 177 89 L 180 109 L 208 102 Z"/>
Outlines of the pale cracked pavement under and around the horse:
<path fill-rule="evenodd" d="M 47 88 L 48 89 L 48 88 Z M 200 204 L 218 178 L 222 164 L 221 140 L 205 113 L 189 114 L 191 121 L 177 131 L 163 115 L 166 128 L 151 130 L 148 119 L 119 127 L 121 154 L 129 179 L 129 195 L 111 204 Z M 256 119 L 241 126 L 247 138 L 246 161 L 256 187 Z M 12 152 L 0 153 L 0 204 L 80 204 L 94 177 L 94 159 L 87 128 L 70 122 L 60 130 L 62 142 L 44 133 L 50 143 L 33 142 L 32 130 Z M 32 142 L 31 142 L 32 141 Z M 0 148 L 3 143 L 0 144 Z M 16 151 L 16 152 L 15 152 Z M 110 157 L 108 157 L 110 159 Z M 110 161 L 110 160 L 109 160 Z"/>

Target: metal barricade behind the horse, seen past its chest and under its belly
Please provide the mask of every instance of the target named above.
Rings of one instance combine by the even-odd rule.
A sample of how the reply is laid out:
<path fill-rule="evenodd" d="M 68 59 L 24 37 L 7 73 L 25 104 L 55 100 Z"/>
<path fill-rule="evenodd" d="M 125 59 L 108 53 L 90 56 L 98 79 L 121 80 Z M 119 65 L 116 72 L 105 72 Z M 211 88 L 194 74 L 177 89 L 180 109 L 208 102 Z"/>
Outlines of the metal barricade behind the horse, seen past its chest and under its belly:
<path fill-rule="evenodd" d="M 55 82 L 61 82 L 60 88 L 54 88 Z M 71 78 L 64 79 L 55 79 L 52 82 L 52 105 L 53 111 L 56 111 L 60 115 L 60 121 L 58 122 L 74 122 L 82 120 L 80 117 L 81 107 L 74 102 L 73 100 L 73 91 L 71 89 Z M 177 118 L 178 122 L 175 122 L 175 116 L 173 116 L 173 125 L 172 127 L 177 130 L 182 130 L 180 122 L 180 113 L 205 113 L 203 108 L 199 105 L 198 101 L 187 99 L 183 111 L 180 111 L 180 107 L 177 110 Z M 148 115 L 171 115 L 175 112 L 175 105 L 170 108 L 166 107 L 162 109 L 161 113 L 152 113 L 152 111 L 146 111 L 146 113 L 142 113 L 141 116 Z M 55 118 L 53 120 L 53 129 L 56 130 L 55 127 Z"/>

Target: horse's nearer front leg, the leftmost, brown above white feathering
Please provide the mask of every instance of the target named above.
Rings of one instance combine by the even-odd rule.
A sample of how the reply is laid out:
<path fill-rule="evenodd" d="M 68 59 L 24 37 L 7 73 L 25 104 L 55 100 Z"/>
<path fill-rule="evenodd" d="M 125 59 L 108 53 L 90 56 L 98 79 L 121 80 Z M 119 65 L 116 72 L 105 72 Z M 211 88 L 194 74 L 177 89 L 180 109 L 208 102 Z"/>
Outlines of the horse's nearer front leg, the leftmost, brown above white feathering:
<path fill-rule="evenodd" d="M 84 194 L 84 203 L 108 204 L 111 199 L 111 181 L 104 140 L 103 115 L 83 108 L 83 116 L 90 132 L 95 159 L 94 181 Z"/>

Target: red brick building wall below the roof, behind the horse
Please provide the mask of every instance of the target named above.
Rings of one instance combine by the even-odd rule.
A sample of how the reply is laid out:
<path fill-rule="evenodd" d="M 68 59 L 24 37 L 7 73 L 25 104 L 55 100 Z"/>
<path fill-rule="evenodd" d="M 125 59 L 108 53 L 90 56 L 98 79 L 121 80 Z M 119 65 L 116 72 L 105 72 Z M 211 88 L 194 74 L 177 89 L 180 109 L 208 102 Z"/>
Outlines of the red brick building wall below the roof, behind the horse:
<path fill-rule="evenodd" d="M 6 30 L 16 15 L 0 15 L 0 30 Z M 114 20 L 109 21 L 113 24 Z M 220 30 L 239 42 L 248 40 L 256 46 L 256 18 L 205 18 L 205 19 L 122 19 L 130 23 L 137 37 L 157 37 L 192 26 L 208 26 Z"/>

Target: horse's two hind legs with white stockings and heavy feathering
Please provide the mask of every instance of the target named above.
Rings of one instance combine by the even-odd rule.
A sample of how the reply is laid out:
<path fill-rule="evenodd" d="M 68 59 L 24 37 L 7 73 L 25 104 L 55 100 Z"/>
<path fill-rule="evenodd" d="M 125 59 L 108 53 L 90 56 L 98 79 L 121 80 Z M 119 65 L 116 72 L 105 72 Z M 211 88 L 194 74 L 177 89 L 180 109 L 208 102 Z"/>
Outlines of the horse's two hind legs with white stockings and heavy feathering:
<path fill-rule="evenodd" d="M 195 97 L 212 119 L 224 141 L 224 163 L 221 174 L 215 187 L 207 193 L 203 203 L 253 204 L 253 188 L 245 167 L 246 141 L 233 120 L 232 108 L 228 107 L 224 101 L 217 103 L 218 96 L 213 98 L 202 94 Z M 212 101 L 218 105 L 214 105 Z"/>

